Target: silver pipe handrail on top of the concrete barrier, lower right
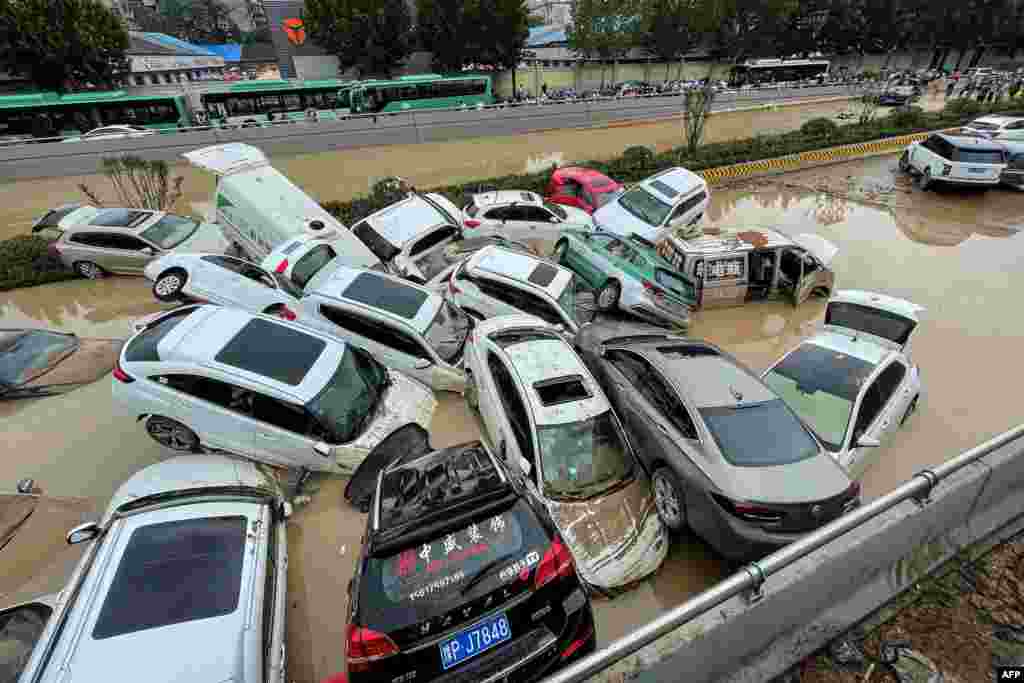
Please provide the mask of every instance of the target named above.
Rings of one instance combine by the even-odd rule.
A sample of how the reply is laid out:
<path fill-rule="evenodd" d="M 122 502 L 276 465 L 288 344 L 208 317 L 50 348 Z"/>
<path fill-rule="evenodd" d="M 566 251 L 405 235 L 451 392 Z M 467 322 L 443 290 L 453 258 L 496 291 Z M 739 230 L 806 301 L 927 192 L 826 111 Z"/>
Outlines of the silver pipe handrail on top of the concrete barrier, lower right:
<path fill-rule="evenodd" d="M 887 512 L 907 500 L 927 504 L 935 485 L 953 472 L 1024 436 L 1024 424 L 1006 431 L 932 469 L 922 470 L 895 490 L 840 517 L 799 541 L 791 543 L 758 562 L 752 562 L 716 586 L 697 594 L 657 618 L 633 630 L 597 652 L 558 671 L 543 683 L 579 683 L 607 669 L 662 636 L 714 609 L 730 598 L 743 595 L 753 603 L 763 596 L 765 581 L 780 569 L 831 543 L 844 533 Z"/>

